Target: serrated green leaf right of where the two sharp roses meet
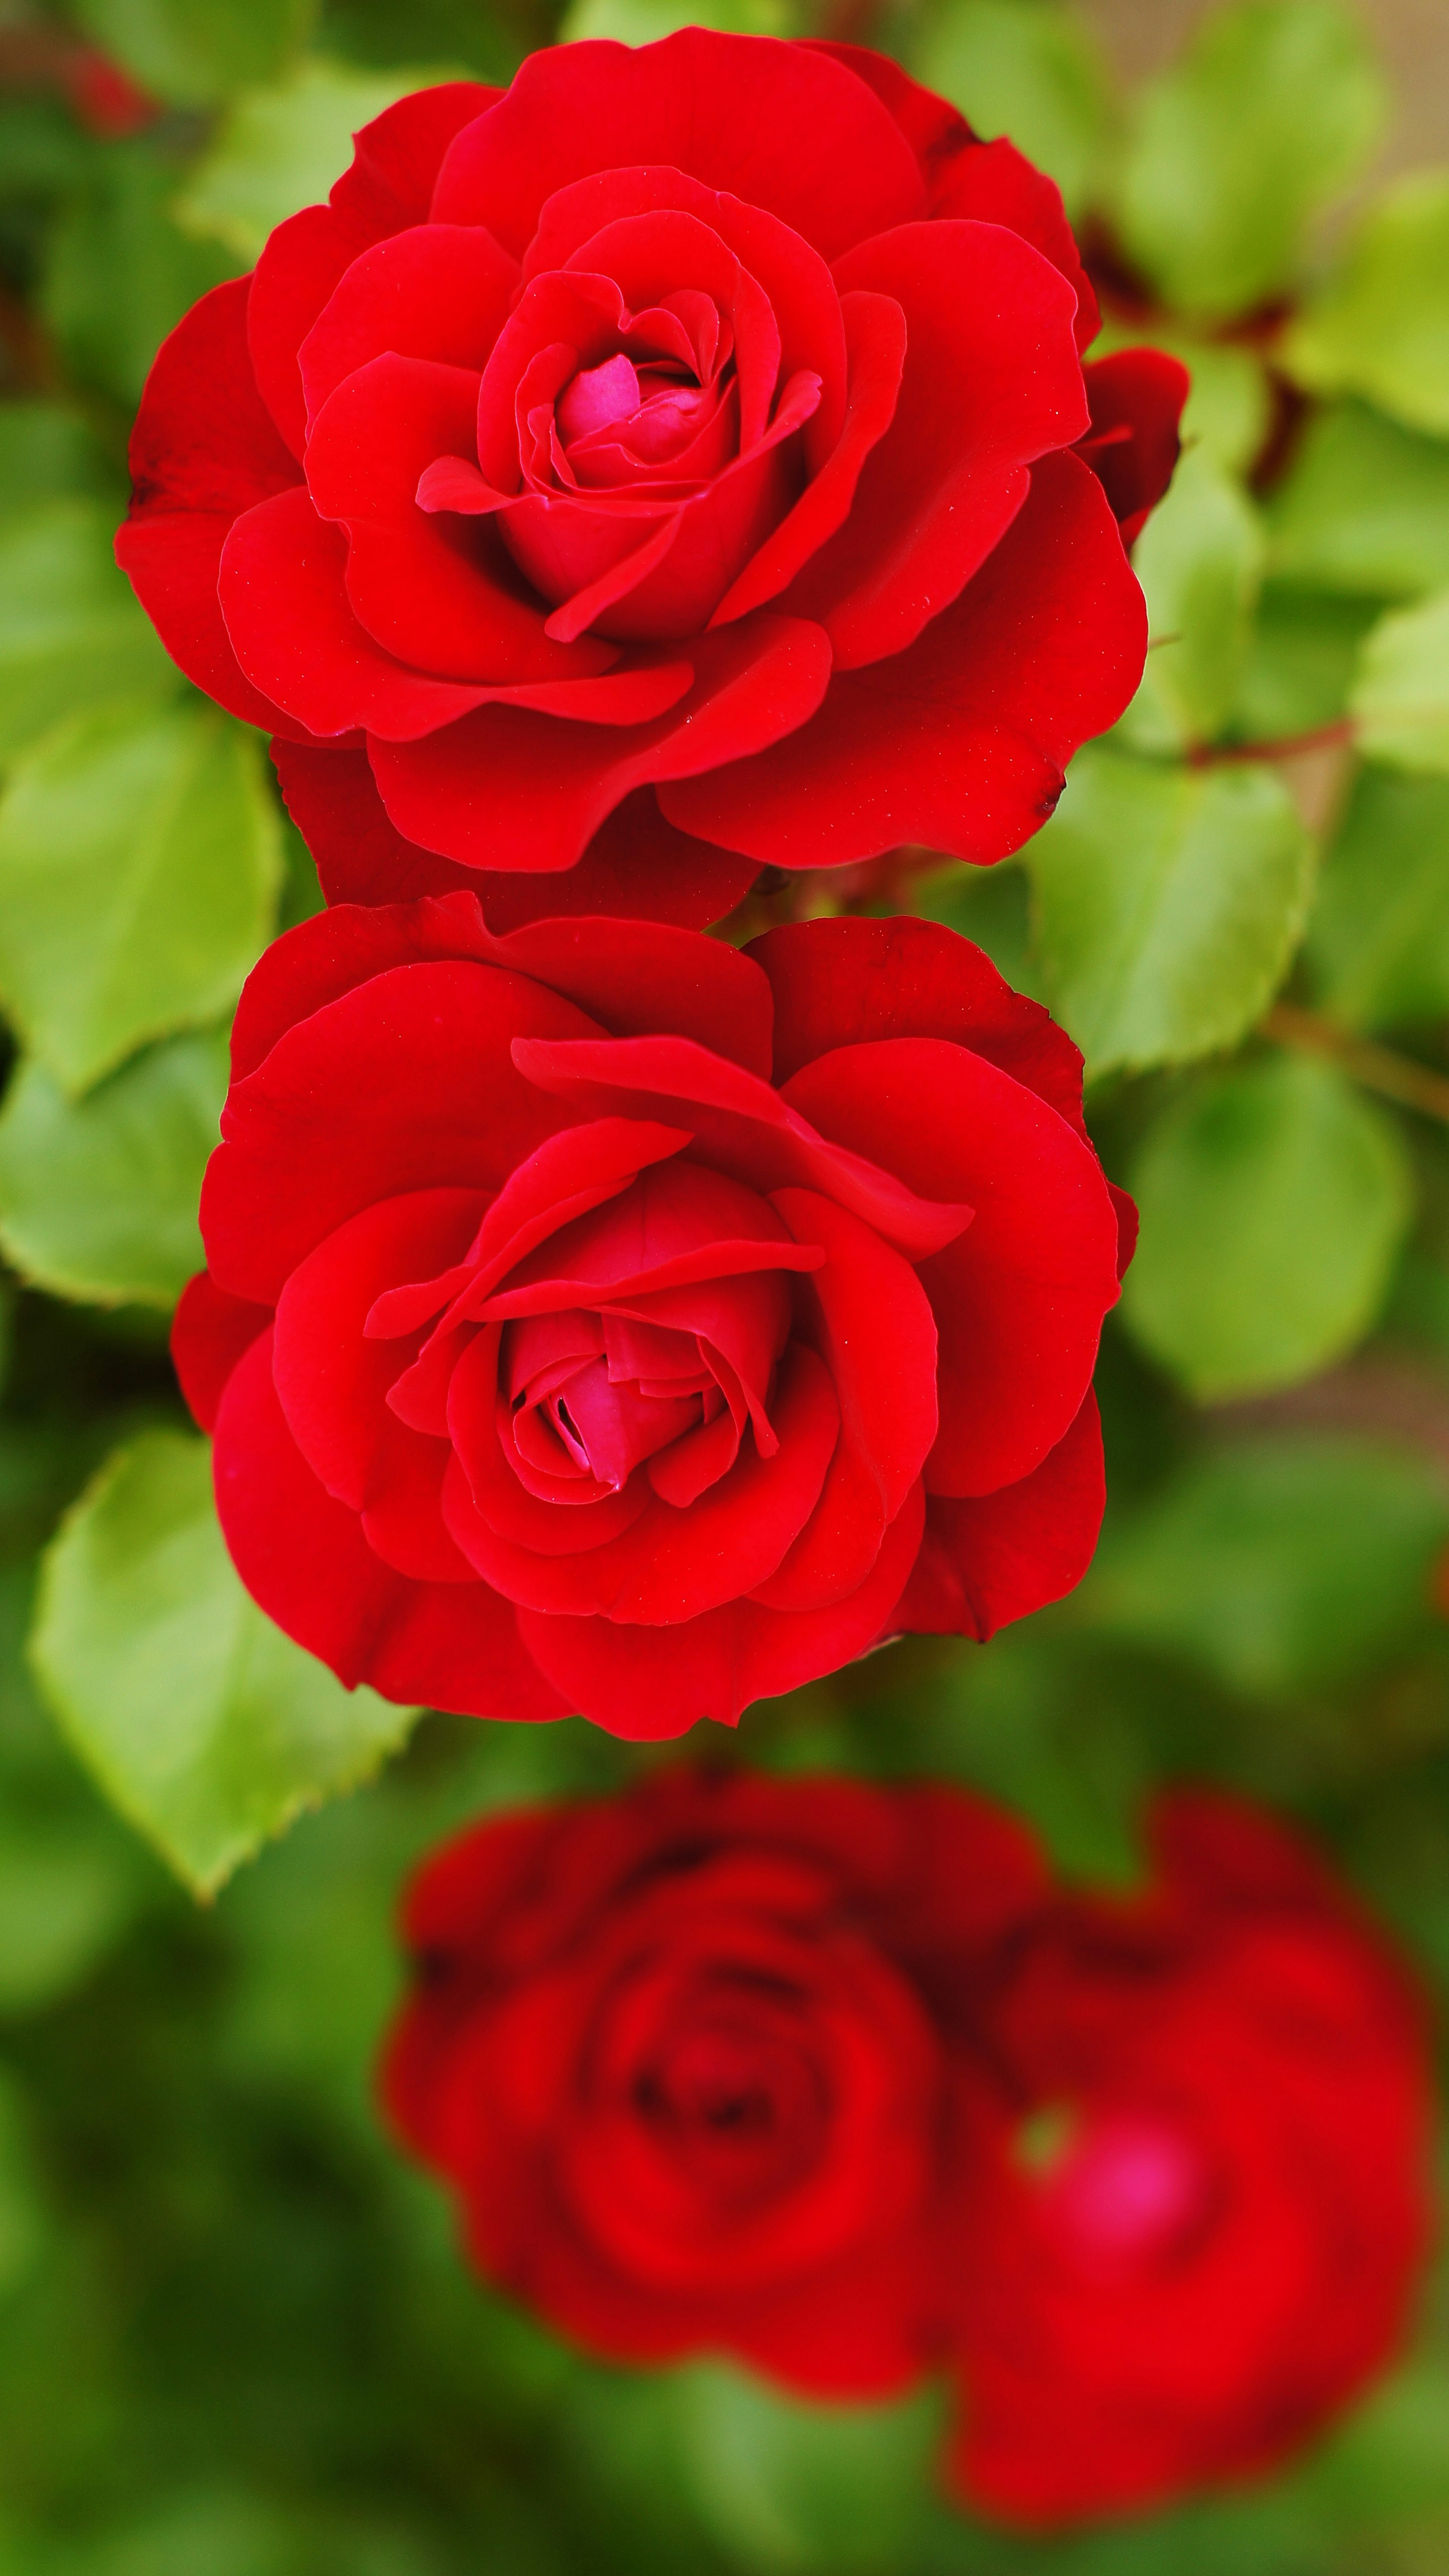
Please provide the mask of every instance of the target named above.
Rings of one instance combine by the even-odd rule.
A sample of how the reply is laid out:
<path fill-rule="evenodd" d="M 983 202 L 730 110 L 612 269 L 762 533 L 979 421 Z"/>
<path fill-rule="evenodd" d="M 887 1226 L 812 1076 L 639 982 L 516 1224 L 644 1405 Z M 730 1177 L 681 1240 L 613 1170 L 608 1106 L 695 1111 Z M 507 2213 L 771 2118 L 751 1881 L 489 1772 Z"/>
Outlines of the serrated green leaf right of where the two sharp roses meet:
<path fill-rule="evenodd" d="M 1052 1010 L 1101 1074 L 1238 1043 L 1302 935 L 1312 842 L 1266 768 L 1096 750 L 1029 868 Z"/>

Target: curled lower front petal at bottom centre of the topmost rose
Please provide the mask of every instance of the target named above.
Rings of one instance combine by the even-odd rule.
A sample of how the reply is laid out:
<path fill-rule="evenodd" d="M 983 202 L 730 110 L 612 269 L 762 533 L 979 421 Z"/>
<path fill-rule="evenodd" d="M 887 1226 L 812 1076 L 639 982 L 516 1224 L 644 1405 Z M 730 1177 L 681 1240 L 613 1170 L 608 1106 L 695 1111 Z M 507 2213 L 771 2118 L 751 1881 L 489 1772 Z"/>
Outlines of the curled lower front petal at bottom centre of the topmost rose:
<path fill-rule="evenodd" d="M 557 724 L 513 706 L 480 706 L 425 742 L 374 742 L 382 801 L 407 840 L 446 858 L 557 873 L 580 860 L 634 788 L 776 742 L 815 714 L 830 683 L 822 629 L 768 611 L 699 636 L 691 659 L 694 690 L 655 724 Z M 547 801 L 539 778 L 549 781 Z M 676 819 L 668 806 L 665 819 Z M 727 832 L 696 837 L 740 848 Z"/>

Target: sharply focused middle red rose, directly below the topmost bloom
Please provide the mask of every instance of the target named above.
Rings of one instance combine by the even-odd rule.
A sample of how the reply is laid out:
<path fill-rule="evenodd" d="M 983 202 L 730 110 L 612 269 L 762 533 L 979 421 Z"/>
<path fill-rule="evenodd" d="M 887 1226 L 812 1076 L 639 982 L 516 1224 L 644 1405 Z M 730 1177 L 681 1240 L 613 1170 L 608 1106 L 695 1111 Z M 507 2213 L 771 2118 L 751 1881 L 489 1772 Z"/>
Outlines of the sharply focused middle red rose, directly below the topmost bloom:
<path fill-rule="evenodd" d="M 1091 1558 L 1114 1195 L 951 930 L 345 904 L 255 969 L 222 1136 L 175 1363 L 345 1682 L 673 1736 Z"/>

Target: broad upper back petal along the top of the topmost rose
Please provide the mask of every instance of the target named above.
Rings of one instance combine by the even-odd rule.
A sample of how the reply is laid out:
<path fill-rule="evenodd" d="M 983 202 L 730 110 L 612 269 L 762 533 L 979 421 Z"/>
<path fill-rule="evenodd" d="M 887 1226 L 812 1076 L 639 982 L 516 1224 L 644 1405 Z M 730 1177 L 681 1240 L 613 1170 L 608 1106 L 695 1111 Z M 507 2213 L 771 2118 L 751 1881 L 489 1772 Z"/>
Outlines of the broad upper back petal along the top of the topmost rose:
<path fill-rule="evenodd" d="M 487 224 L 521 258 L 554 188 L 647 162 L 766 206 L 825 260 L 908 224 L 926 196 L 895 118 L 841 64 L 771 36 L 681 28 L 639 52 L 531 54 L 498 108 L 451 144 L 433 222 Z"/>

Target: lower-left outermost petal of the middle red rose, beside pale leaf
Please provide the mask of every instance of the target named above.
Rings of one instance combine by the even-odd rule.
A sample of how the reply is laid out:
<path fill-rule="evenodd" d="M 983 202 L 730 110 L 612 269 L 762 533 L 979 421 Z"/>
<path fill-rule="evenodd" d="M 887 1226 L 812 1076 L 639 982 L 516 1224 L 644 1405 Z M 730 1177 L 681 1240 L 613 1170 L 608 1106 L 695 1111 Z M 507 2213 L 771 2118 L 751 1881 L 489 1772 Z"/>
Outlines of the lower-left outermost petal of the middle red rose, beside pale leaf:
<path fill-rule="evenodd" d="M 418 1584 L 371 1553 L 356 1512 L 317 1484 L 271 1383 L 271 1334 L 232 1370 L 217 1414 L 217 1512 L 255 1602 L 348 1690 L 477 1718 L 562 1718 L 567 1703 L 487 1584 Z"/>

